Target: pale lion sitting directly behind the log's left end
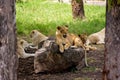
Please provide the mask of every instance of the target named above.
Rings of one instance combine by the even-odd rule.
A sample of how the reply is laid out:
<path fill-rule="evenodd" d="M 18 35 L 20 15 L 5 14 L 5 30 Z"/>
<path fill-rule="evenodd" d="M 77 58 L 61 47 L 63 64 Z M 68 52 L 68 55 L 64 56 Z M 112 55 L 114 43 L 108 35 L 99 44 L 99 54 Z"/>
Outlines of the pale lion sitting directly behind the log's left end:
<path fill-rule="evenodd" d="M 47 40 L 48 37 L 40 33 L 38 30 L 32 30 L 30 33 L 32 39 L 32 44 L 38 48 L 38 44 L 44 40 Z"/>

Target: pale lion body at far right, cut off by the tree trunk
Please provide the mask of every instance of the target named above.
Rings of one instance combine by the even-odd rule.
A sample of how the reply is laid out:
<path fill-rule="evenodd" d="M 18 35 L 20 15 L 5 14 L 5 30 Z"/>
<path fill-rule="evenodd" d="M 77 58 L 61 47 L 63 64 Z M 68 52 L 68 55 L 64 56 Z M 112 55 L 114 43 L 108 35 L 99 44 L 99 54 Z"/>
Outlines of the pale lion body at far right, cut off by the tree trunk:
<path fill-rule="evenodd" d="M 89 44 L 104 44 L 105 41 L 105 28 L 103 28 L 101 31 L 96 32 L 91 34 L 90 36 L 88 36 L 87 41 L 86 41 L 86 45 Z"/>

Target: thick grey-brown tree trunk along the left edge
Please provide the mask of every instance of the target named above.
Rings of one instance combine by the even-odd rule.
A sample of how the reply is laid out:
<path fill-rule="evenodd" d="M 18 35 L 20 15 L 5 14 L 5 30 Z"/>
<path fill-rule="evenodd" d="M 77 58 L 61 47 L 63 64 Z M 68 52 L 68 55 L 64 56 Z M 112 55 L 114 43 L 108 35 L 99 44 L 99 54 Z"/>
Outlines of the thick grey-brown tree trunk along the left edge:
<path fill-rule="evenodd" d="M 0 80 L 17 80 L 15 0 L 0 0 Z"/>

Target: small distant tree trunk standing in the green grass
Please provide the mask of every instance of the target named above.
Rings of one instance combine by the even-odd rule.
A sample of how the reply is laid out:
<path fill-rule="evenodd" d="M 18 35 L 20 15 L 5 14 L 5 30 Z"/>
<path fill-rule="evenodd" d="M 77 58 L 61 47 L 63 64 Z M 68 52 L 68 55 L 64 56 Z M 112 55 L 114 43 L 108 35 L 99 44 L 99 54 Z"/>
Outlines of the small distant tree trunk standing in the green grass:
<path fill-rule="evenodd" d="M 71 5 L 73 18 L 83 19 L 85 17 L 83 0 L 72 0 Z"/>

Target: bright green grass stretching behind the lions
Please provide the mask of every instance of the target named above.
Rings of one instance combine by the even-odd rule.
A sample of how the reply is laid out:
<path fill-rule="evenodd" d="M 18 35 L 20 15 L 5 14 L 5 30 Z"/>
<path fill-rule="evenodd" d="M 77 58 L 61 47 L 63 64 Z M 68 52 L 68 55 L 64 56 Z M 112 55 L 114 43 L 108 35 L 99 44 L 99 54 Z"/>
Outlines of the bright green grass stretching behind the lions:
<path fill-rule="evenodd" d="M 55 35 L 58 25 L 69 25 L 69 31 L 76 34 L 91 34 L 105 27 L 105 7 L 84 6 L 84 20 L 73 20 L 71 5 L 53 3 L 50 0 L 29 0 L 16 3 L 18 35 L 29 35 L 37 29 L 45 35 Z"/>

